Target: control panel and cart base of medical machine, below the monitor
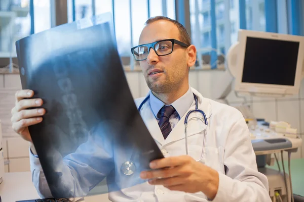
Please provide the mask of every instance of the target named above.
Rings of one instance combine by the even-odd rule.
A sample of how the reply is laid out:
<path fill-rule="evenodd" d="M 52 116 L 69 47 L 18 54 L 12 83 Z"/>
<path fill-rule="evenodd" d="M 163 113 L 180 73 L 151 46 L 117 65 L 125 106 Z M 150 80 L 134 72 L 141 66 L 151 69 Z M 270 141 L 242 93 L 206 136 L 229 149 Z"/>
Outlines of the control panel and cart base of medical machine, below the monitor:
<path fill-rule="evenodd" d="M 278 128 L 277 126 L 280 130 L 276 130 L 276 128 Z M 282 130 L 282 126 L 286 127 L 285 130 Z M 262 121 L 258 122 L 257 125 L 251 125 L 251 127 L 249 127 L 252 146 L 255 155 L 257 156 L 256 159 L 259 172 L 268 177 L 271 197 L 275 197 L 275 191 L 279 191 L 281 192 L 282 201 L 287 202 L 293 201 L 293 194 L 291 194 L 293 192 L 290 177 L 290 155 L 291 153 L 295 153 L 298 147 L 301 147 L 302 145 L 302 139 L 299 136 L 296 134 L 289 134 L 294 131 L 290 128 L 291 125 L 286 122 L 271 122 L 271 124 L 267 126 L 263 125 Z M 288 152 L 289 175 L 285 172 L 283 151 Z M 270 157 L 271 154 L 275 154 L 278 163 L 276 153 L 281 153 L 283 173 L 281 173 L 280 167 L 279 171 L 265 167 L 266 159 L 267 157 Z M 292 200 L 290 200 L 290 198 Z"/>

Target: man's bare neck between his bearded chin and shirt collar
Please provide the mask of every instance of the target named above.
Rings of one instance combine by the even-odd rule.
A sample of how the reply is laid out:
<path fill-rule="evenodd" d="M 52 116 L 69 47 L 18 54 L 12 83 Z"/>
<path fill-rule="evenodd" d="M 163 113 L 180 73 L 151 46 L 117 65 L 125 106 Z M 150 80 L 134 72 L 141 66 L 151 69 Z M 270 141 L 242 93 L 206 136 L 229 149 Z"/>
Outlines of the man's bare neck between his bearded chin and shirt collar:
<path fill-rule="evenodd" d="M 165 103 L 166 105 L 171 105 L 172 103 L 175 102 L 175 100 L 177 100 L 179 97 L 184 95 L 188 91 L 188 89 L 189 89 L 189 85 L 182 85 L 179 88 L 177 88 L 176 90 L 172 90 L 170 92 L 154 92 L 154 91 L 152 91 L 152 93 L 157 98 L 162 100 L 162 102 Z"/>

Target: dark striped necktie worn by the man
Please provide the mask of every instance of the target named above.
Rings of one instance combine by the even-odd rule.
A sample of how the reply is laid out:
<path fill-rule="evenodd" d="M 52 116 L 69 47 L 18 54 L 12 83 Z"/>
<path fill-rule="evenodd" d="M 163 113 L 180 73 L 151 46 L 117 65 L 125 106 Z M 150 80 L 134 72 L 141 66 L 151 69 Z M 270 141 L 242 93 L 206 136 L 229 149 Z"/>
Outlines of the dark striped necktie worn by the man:
<path fill-rule="evenodd" d="M 169 118 L 174 112 L 175 109 L 171 105 L 162 107 L 162 109 L 159 112 L 160 114 L 159 126 L 165 139 L 168 137 L 169 133 L 172 130 L 171 124 L 169 122 Z"/>

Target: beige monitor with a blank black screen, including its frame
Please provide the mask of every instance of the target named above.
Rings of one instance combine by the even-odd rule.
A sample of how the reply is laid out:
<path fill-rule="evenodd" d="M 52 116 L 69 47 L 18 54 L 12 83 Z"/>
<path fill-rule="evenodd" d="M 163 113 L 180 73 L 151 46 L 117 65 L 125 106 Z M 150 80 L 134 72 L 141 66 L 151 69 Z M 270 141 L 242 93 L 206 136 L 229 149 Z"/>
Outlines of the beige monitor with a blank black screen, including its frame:
<path fill-rule="evenodd" d="M 304 65 L 304 37 L 239 31 L 235 90 L 253 96 L 298 94 Z M 234 54 L 231 54 L 230 59 Z"/>

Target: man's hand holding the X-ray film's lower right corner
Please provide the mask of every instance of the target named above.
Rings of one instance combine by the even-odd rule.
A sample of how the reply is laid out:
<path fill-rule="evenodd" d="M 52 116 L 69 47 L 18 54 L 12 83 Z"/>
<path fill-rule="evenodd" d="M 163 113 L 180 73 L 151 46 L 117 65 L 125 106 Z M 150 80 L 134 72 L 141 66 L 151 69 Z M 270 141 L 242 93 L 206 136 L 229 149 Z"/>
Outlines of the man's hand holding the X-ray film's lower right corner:
<path fill-rule="evenodd" d="M 142 179 L 170 190 L 195 193 L 202 191 L 213 199 L 218 189 L 218 172 L 190 156 L 168 157 L 152 161 L 151 171 L 143 171 Z"/>

